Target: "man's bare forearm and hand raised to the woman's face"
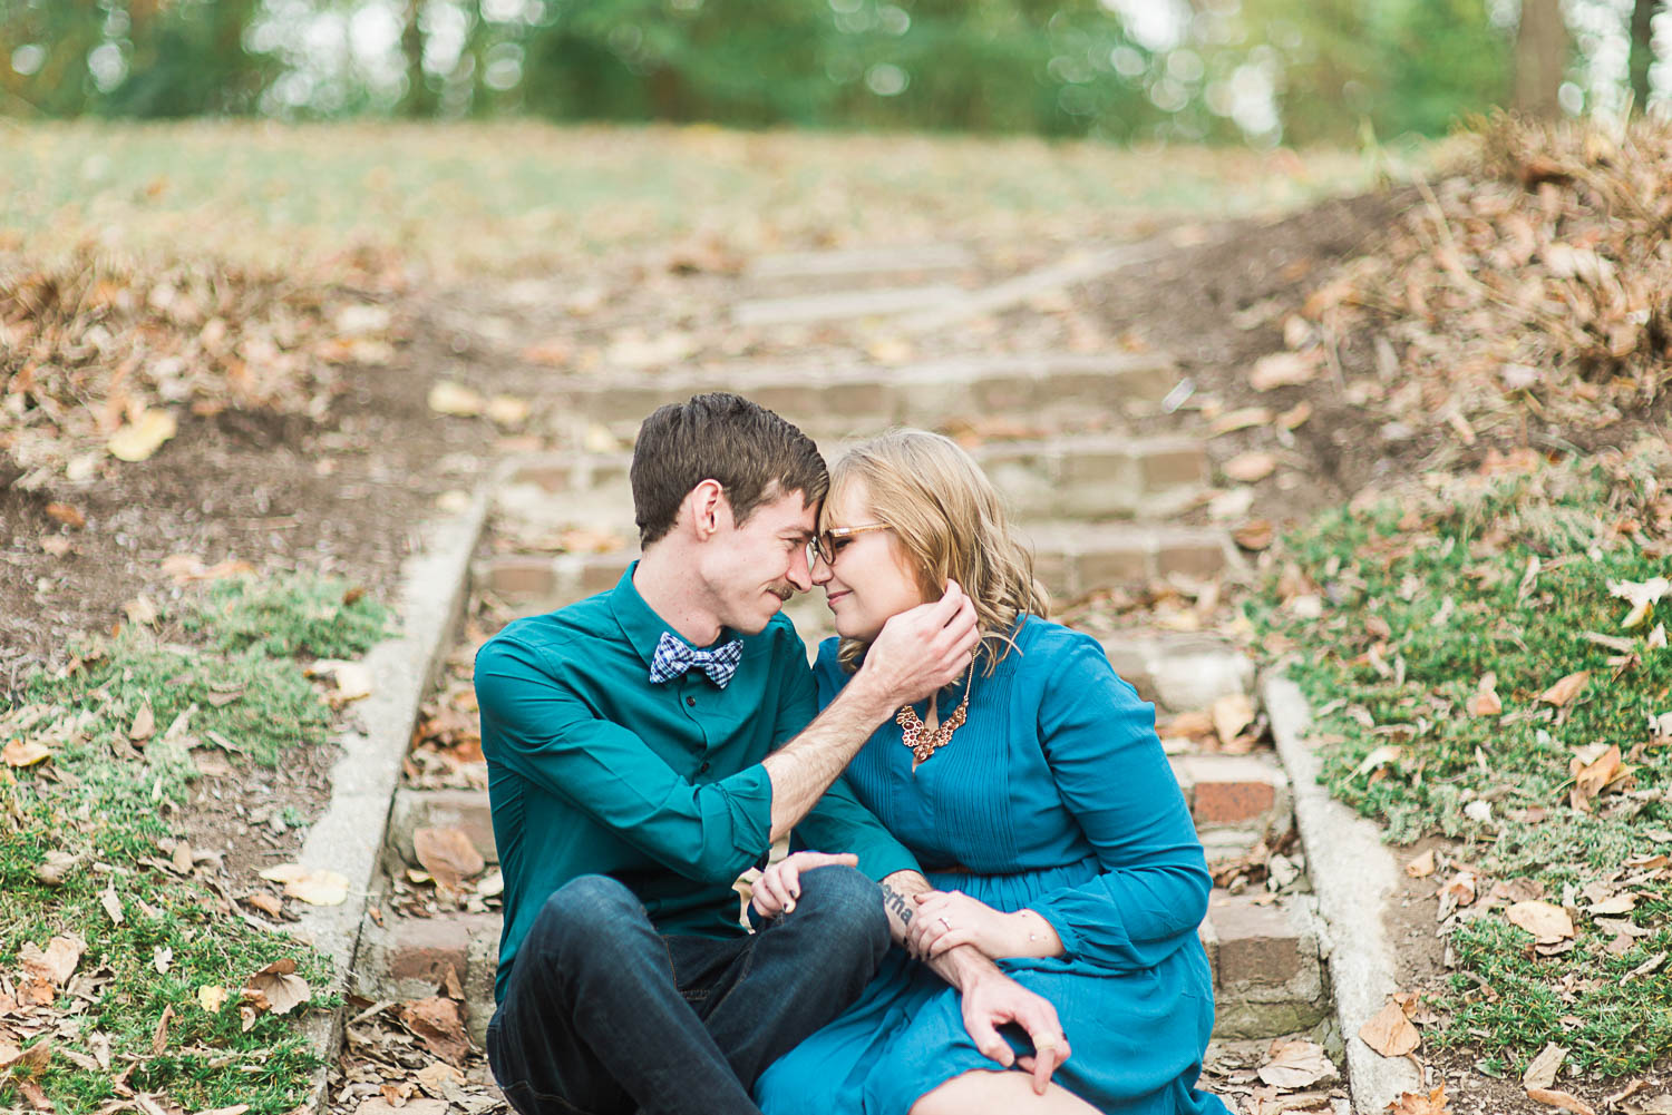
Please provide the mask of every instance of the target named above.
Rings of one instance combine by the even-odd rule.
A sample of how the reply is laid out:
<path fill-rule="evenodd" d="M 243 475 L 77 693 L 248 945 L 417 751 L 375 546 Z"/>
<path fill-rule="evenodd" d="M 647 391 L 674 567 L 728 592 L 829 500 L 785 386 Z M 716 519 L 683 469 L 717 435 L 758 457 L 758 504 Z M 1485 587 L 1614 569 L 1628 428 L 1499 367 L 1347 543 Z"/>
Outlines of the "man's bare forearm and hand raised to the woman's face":
<path fill-rule="evenodd" d="M 978 642 L 975 605 L 956 583 L 938 602 L 890 619 L 853 680 L 804 732 L 762 761 L 772 782 L 772 839 L 808 816 L 895 709 L 963 677 Z"/>

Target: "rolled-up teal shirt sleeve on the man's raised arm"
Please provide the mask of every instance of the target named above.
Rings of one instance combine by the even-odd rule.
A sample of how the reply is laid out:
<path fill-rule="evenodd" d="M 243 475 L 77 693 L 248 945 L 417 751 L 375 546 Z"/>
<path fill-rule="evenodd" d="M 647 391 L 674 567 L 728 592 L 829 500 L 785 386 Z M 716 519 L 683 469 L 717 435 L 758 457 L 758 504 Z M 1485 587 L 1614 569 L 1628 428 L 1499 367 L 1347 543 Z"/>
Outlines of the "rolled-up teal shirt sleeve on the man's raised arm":
<path fill-rule="evenodd" d="M 772 784 L 759 764 L 691 782 L 530 647 L 495 639 L 477 654 L 477 704 L 495 761 L 689 879 L 731 884 L 771 846 Z"/>

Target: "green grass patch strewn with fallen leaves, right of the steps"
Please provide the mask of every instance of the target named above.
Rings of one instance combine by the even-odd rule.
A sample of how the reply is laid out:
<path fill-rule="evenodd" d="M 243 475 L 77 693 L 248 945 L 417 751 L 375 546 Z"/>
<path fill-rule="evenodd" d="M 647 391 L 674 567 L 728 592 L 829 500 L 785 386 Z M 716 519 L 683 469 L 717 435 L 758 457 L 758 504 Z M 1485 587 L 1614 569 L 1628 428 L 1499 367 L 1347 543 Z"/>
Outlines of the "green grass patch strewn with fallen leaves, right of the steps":
<path fill-rule="evenodd" d="M 1654 861 L 1672 854 L 1672 747 L 1654 727 L 1672 710 L 1672 652 L 1654 615 L 1624 629 L 1630 605 L 1610 593 L 1667 573 L 1669 463 L 1664 446 L 1528 461 L 1339 508 L 1286 540 L 1286 567 L 1249 605 L 1313 702 L 1331 792 L 1393 843 L 1466 843 L 1456 868 L 1476 876 L 1478 899 L 1448 923 L 1460 975 L 1438 1040 L 1480 1048 L 1483 1070 L 1520 1073 L 1547 1041 L 1603 1075 L 1672 1055 L 1652 965 L 1672 948 Z M 1580 670 L 1575 697 L 1543 699 Z M 1488 674 L 1496 709 L 1478 697 Z M 1575 757 L 1610 744 L 1630 776 L 1575 807 Z M 1505 919 L 1535 893 L 1577 913 L 1568 951 L 1540 951 Z M 1635 909 L 1590 913 L 1625 894 Z"/>

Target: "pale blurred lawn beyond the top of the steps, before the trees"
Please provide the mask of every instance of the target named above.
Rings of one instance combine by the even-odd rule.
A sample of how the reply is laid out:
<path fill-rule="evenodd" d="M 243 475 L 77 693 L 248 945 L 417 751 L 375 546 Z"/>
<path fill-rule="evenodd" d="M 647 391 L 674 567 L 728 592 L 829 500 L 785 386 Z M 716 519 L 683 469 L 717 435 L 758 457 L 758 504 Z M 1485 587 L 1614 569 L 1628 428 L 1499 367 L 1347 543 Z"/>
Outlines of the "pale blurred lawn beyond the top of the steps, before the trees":
<path fill-rule="evenodd" d="M 1413 159 L 1425 159 L 1415 152 Z M 497 124 L 12 124 L 0 229 L 294 266 L 348 246 L 461 277 L 719 236 L 744 251 L 993 236 L 1292 209 L 1364 189 L 1356 152 L 1120 149 L 1032 137 Z M 0 232 L 0 249 L 7 244 Z"/>

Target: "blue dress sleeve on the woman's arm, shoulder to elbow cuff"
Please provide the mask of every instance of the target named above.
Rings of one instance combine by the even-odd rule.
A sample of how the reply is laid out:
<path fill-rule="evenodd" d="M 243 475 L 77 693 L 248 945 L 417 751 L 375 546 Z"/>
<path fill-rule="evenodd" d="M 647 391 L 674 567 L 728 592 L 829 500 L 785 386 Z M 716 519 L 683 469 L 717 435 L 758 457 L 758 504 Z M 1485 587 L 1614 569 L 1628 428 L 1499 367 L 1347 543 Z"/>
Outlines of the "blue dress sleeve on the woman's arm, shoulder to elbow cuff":
<path fill-rule="evenodd" d="M 1150 968 L 1207 914 L 1212 878 L 1155 710 L 1095 640 L 1075 640 L 1040 700 L 1040 746 L 1102 874 L 1032 904 L 1063 950 L 1115 971 Z"/>

